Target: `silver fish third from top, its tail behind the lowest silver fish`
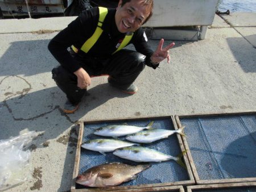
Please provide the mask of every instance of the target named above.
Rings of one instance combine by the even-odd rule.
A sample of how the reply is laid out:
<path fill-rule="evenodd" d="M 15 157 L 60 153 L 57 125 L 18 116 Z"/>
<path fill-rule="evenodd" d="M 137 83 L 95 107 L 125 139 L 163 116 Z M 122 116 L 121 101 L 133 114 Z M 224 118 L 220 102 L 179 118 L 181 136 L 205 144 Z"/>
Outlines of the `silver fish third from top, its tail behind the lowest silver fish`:
<path fill-rule="evenodd" d="M 113 152 L 117 148 L 127 147 L 132 145 L 139 145 L 139 144 L 131 143 L 128 141 L 121 141 L 117 139 L 92 139 L 82 143 L 81 147 L 84 149 L 92 150 L 92 151 L 98 151 L 101 154 L 106 155 L 105 152 Z"/>

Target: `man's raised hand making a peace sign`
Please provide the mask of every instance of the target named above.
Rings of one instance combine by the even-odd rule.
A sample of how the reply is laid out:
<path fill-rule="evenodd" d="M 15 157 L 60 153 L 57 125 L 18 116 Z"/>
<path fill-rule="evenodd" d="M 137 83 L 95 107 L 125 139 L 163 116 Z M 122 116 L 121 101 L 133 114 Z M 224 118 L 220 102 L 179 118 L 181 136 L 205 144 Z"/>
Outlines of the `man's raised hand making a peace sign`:
<path fill-rule="evenodd" d="M 174 47 L 175 43 L 172 42 L 171 44 L 167 45 L 167 47 L 165 48 L 163 48 L 163 43 L 164 43 L 164 39 L 161 39 L 159 42 L 158 48 L 150 57 L 150 60 L 152 62 L 155 62 L 155 63 L 161 62 L 167 58 L 167 62 L 170 63 L 169 49 Z"/>

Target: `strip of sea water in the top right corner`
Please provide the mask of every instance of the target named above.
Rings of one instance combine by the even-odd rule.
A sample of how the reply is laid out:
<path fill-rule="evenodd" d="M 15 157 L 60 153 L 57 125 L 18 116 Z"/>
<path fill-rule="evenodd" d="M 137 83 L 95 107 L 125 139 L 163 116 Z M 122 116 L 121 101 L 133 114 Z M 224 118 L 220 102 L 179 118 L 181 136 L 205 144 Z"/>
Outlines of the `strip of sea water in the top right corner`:
<path fill-rule="evenodd" d="M 217 10 L 225 12 L 256 12 L 256 0 L 218 0 Z"/>

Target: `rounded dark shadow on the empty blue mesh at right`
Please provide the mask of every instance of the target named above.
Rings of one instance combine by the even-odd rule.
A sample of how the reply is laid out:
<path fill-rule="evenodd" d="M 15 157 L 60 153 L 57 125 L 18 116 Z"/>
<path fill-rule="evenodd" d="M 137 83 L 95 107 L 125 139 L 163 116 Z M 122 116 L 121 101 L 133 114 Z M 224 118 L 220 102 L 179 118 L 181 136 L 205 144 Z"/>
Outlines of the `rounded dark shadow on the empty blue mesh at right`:
<path fill-rule="evenodd" d="M 221 160 L 221 168 L 229 178 L 255 177 L 256 172 L 256 132 L 240 137 L 226 147 L 225 155 Z"/>

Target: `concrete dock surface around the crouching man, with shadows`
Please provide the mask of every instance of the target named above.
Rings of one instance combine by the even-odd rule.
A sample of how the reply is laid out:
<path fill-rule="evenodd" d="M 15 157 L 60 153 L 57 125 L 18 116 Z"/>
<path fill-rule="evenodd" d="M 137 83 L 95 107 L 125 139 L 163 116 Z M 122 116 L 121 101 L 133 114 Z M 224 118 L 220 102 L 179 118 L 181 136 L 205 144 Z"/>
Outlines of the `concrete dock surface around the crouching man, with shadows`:
<path fill-rule="evenodd" d="M 58 63 L 47 45 L 73 19 L 0 20 L 0 139 L 38 133 L 30 177 L 6 191 L 69 191 L 79 120 L 256 111 L 256 14 L 241 12 L 215 15 L 204 40 L 175 41 L 171 63 L 146 66 L 137 94 L 96 77 L 79 110 L 64 114 L 65 95 L 51 78 Z M 158 43 L 150 40 L 152 49 Z"/>

